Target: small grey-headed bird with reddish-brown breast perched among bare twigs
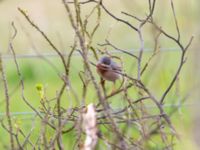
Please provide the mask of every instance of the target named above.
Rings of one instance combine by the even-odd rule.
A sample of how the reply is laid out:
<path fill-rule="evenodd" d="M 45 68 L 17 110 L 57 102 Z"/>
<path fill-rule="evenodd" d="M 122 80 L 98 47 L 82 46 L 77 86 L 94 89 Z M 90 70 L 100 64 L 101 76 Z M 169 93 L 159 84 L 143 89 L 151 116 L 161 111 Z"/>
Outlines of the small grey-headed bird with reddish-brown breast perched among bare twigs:
<path fill-rule="evenodd" d="M 96 65 L 97 73 L 107 81 L 115 83 L 120 78 L 121 67 L 115 63 L 110 57 L 102 57 Z"/>

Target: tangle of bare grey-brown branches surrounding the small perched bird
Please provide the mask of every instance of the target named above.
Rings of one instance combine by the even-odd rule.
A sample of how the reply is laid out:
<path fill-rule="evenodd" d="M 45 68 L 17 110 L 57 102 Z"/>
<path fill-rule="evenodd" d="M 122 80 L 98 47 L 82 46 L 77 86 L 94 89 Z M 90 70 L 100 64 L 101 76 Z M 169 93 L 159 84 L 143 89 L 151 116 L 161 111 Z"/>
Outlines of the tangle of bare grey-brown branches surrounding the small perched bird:
<path fill-rule="evenodd" d="M 168 33 L 167 30 L 159 26 L 159 22 L 154 21 L 155 10 L 157 8 L 156 0 L 146 1 L 148 10 L 146 16 L 140 18 L 128 12 L 121 12 L 119 17 L 109 10 L 105 1 L 103 0 L 87 0 L 87 1 L 67 1 L 62 0 L 63 7 L 66 10 L 66 21 L 71 24 L 72 30 L 75 33 L 74 44 L 69 47 L 68 55 L 63 55 L 63 51 L 59 49 L 54 41 L 33 21 L 26 8 L 18 8 L 19 13 L 24 19 L 35 29 L 35 32 L 41 34 L 45 41 L 55 51 L 63 65 L 63 73 L 58 72 L 62 85 L 60 89 L 55 91 L 56 96 L 54 100 L 48 99 L 45 96 L 44 87 L 37 85 L 37 90 L 40 94 L 40 106 L 34 107 L 31 104 L 31 98 L 25 96 L 25 87 L 23 74 L 16 58 L 15 47 L 13 42 L 17 36 L 18 30 L 15 24 L 12 23 L 13 35 L 10 37 L 9 50 L 12 52 L 15 68 L 19 79 L 19 87 L 21 88 L 21 99 L 23 102 L 35 113 L 32 121 L 32 127 L 28 131 L 24 130 L 22 126 L 17 124 L 11 115 L 10 107 L 10 91 L 5 74 L 4 62 L 0 56 L 0 74 L 1 81 L 3 81 L 5 93 L 5 117 L 1 118 L 1 127 L 9 134 L 10 141 L 7 144 L 7 149 L 69 149 L 66 146 L 65 140 L 73 138 L 73 143 L 69 145 L 72 149 L 121 149 L 121 150 L 140 150 L 140 149 L 173 149 L 175 143 L 180 139 L 177 133 L 171 116 L 177 111 L 177 108 L 171 108 L 169 112 L 164 109 L 167 96 L 172 91 L 182 67 L 186 61 L 186 53 L 192 43 L 191 37 L 188 43 L 181 42 L 181 32 L 179 30 L 178 18 L 174 8 L 173 0 L 169 0 L 171 11 L 174 19 L 174 28 L 176 35 Z M 88 10 L 86 16 L 82 15 L 82 8 L 87 5 L 92 6 Z M 106 37 L 105 41 L 94 43 L 94 36 L 101 28 L 100 24 L 105 14 L 110 20 L 115 20 L 124 27 L 128 27 L 133 32 L 127 34 L 137 35 L 139 41 L 139 52 L 133 54 L 122 48 L 118 48 L 113 44 L 112 39 Z M 95 16 L 91 20 L 91 16 Z M 124 19 L 126 18 L 126 19 Z M 128 19 L 127 19 L 128 18 Z M 132 24 L 132 21 L 137 23 Z M 93 27 L 89 27 L 90 23 Z M 151 25 L 155 30 L 154 47 L 151 56 L 144 59 L 145 36 L 144 28 Z M 108 33 L 108 35 L 111 33 Z M 148 88 L 147 83 L 143 80 L 143 76 L 148 70 L 152 59 L 159 52 L 159 38 L 166 37 L 168 40 L 176 44 L 180 49 L 180 60 L 175 73 L 170 77 L 165 90 L 162 95 L 157 97 Z M 100 44 L 101 43 L 101 44 Z M 99 77 L 96 75 L 95 65 L 101 55 L 108 55 L 119 60 L 124 65 L 123 58 L 114 56 L 107 50 L 113 48 L 120 51 L 125 57 L 129 58 L 130 62 L 136 64 L 134 67 L 137 73 L 129 73 L 126 70 L 120 72 L 123 77 L 120 88 L 113 92 L 104 87 L 105 85 L 99 83 Z M 82 61 L 82 70 L 79 72 L 79 84 L 82 86 L 81 94 L 76 90 L 72 81 L 72 67 L 73 53 L 80 53 Z M 55 68 L 53 63 L 46 58 L 41 57 L 50 66 Z M 93 62 L 92 60 L 96 60 Z M 47 89 L 48 90 L 48 89 Z M 131 91 L 137 91 L 137 94 L 131 94 Z M 87 95 L 95 95 L 91 100 L 93 104 L 89 104 Z M 63 107 L 62 102 L 66 101 L 63 97 L 67 94 L 67 101 L 73 101 L 75 105 L 69 104 L 68 107 Z M 69 96 L 70 95 L 70 96 Z M 118 109 L 112 105 L 112 101 L 119 99 L 123 105 L 118 106 Z M 155 106 L 155 112 L 149 111 L 146 105 L 151 103 Z M 40 109 L 39 109 L 40 108 Z M 40 127 L 35 127 L 35 121 L 40 120 Z M 39 128 L 39 130 L 36 128 Z M 51 130 L 51 135 L 48 131 Z M 38 132 L 39 131 L 39 132 Z M 38 132 L 38 137 L 31 138 L 34 132 Z M 159 141 L 155 142 L 155 141 Z M 154 143 L 152 146 L 152 143 Z"/>

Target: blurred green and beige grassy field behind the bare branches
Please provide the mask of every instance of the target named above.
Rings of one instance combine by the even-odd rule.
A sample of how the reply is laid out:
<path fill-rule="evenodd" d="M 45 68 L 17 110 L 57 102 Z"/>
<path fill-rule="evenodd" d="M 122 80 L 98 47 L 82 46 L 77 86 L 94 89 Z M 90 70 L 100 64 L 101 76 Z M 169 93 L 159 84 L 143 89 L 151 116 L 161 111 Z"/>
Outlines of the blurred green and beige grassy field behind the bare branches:
<path fill-rule="evenodd" d="M 145 0 L 107 0 L 105 5 L 112 13 L 119 17 L 129 20 L 133 25 L 138 25 L 137 22 L 131 18 L 122 15 L 121 11 L 129 12 L 130 14 L 144 17 L 147 13 L 147 1 Z M 194 35 L 194 41 L 187 53 L 187 62 L 181 72 L 180 78 L 172 89 L 172 92 L 167 96 L 166 105 L 175 102 L 178 104 L 179 100 L 185 95 L 189 94 L 184 106 L 181 106 L 177 114 L 172 118 L 178 132 L 181 135 L 181 141 L 177 144 L 176 149 L 191 149 L 197 150 L 200 143 L 200 125 L 199 116 L 199 86 L 200 86 L 200 65 L 199 65 L 199 40 L 200 40 L 200 1 L 198 0 L 176 0 L 174 1 L 176 15 L 181 32 L 181 41 L 187 43 L 189 38 Z M 85 5 L 82 9 L 82 17 L 91 10 L 93 5 Z M 11 111 L 14 113 L 13 118 L 21 122 L 24 132 L 31 127 L 32 114 L 30 108 L 25 105 L 21 99 L 21 91 L 19 87 L 19 80 L 16 73 L 16 68 L 13 59 L 6 57 L 11 54 L 8 43 L 9 37 L 13 30 L 11 22 L 14 21 L 17 27 L 17 36 L 14 40 L 14 48 L 17 55 L 35 55 L 52 54 L 54 51 L 43 39 L 43 37 L 35 31 L 33 27 L 24 19 L 17 8 L 20 7 L 27 11 L 29 17 L 35 22 L 54 42 L 54 44 L 63 52 L 67 53 L 70 50 L 74 41 L 74 32 L 69 24 L 65 9 L 61 1 L 57 0 L 1 0 L 0 1 L 0 53 L 3 55 L 3 65 L 6 71 L 6 77 L 9 85 L 9 93 L 11 93 Z M 176 36 L 176 28 L 173 20 L 173 14 L 170 9 L 170 1 L 157 1 L 156 11 L 154 14 L 155 21 L 162 26 L 163 29 L 170 34 Z M 89 26 L 94 26 L 95 16 L 90 19 Z M 139 48 L 139 40 L 136 32 L 130 30 L 127 26 L 116 22 L 102 11 L 100 27 L 94 36 L 92 46 L 101 48 L 98 43 L 104 43 L 105 38 L 109 34 L 109 40 L 119 48 L 133 50 Z M 154 46 L 154 30 L 152 26 L 146 26 L 143 30 L 145 38 L 145 48 L 152 49 Z M 142 80 L 145 81 L 151 91 L 160 97 L 163 90 L 169 84 L 173 73 L 175 72 L 180 59 L 180 52 L 173 42 L 161 36 L 159 39 L 161 51 L 156 55 L 149 68 L 146 70 Z M 144 53 L 143 65 L 148 60 L 152 51 Z M 127 72 L 131 72 L 134 76 L 137 75 L 136 61 L 130 59 L 127 55 L 115 54 L 124 61 L 124 68 Z M 78 72 L 83 70 L 82 62 L 79 55 L 72 57 L 72 68 L 70 79 L 72 86 L 82 91 Z M 92 58 L 91 58 L 92 59 Z M 58 57 L 47 57 L 47 60 L 52 62 L 57 71 L 62 74 L 63 67 Z M 95 62 L 95 60 L 92 60 Z M 39 108 L 39 96 L 35 85 L 42 83 L 46 88 L 46 95 L 48 98 L 56 96 L 56 90 L 61 87 L 61 81 L 56 71 L 46 61 L 40 58 L 19 58 L 20 69 L 22 71 L 25 82 L 25 96 L 28 97 L 30 103 Z M 94 72 L 95 72 L 95 68 Z M 95 74 L 97 76 L 97 74 Z M 108 85 L 111 86 L 111 85 Z M 177 91 L 178 89 L 178 91 Z M 94 99 L 95 94 L 90 91 L 88 99 Z M 79 95 L 79 97 L 81 94 Z M 4 102 L 3 84 L 0 82 L 0 117 L 4 117 L 5 102 Z M 89 103 L 89 101 L 87 102 Z M 115 102 L 113 102 L 115 103 Z M 75 102 L 63 101 L 63 106 L 76 105 Z M 117 105 L 121 105 L 119 102 Z M 166 107 L 166 110 L 169 109 Z M 27 112 L 24 115 L 17 115 L 16 112 Z M 36 122 L 39 127 L 40 122 Z M 31 138 L 37 136 L 40 129 L 36 128 Z M 51 131 L 50 133 L 51 134 Z M 65 137 L 65 145 L 70 145 L 73 141 L 69 136 Z M 8 142 L 8 134 L 0 128 L 0 148 L 2 149 Z M 73 141 L 74 142 L 74 141 Z"/>

